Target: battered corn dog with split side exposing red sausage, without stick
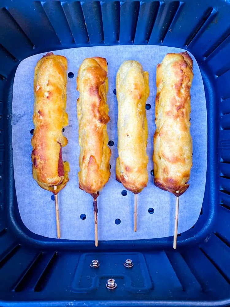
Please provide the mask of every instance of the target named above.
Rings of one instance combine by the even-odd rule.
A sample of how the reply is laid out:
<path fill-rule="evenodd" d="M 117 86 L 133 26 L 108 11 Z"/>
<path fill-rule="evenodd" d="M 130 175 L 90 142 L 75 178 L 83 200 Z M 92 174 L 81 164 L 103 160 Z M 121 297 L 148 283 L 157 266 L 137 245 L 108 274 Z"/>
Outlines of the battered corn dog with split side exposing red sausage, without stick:
<path fill-rule="evenodd" d="M 67 145 L 62 134 L 63 127 L 68 125 L 66 84 L 67 59 L 47 53 L 35 67 L 32 162 L 33 178 L 38 185 L 55 194 L 69 180 L 69 164 L 62 160 L 62 147 Z"/>

